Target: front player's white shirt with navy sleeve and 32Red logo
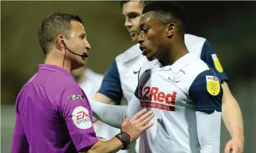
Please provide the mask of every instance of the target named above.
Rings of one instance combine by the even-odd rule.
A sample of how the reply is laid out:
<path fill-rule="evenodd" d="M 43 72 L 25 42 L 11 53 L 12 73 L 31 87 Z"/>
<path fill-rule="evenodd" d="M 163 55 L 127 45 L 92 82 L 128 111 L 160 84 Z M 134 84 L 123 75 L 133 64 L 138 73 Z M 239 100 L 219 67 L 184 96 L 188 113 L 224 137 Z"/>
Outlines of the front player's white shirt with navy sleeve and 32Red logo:
<path fill-rule="evenodd" d="M 222 95 L 216 73 L 191 52 L 170 66 L 145 62 L 135 96 L 155 116 L 154 126 L 140 136 L 139 152 L 198 153 L 195 112 L 221 112 Z M 220 122 L 213 126 L 220 131 Z"/>

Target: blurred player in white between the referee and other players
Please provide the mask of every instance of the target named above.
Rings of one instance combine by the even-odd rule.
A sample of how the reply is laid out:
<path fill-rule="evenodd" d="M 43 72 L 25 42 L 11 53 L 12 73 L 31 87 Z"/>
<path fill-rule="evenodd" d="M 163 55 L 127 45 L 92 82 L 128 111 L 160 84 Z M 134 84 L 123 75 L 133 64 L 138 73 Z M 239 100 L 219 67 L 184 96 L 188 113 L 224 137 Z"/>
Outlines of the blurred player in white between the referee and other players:
<path fill-rule="evenodd" d="M 104 75 L 95 73 L 89 68 L 79 68 L 74 69 L 72 71 L 72 75 L 80 85 L 80 87 L 85 91 L 86 96 L 88 98 L 92 98 L 92 96 L 99 90 L 102 79 Z M 102 137 L 106 140 L 110 140 L 115 137 L 117 133 L 120 132 L 120 129 L 109 126 L 108 124 L 103 123 L 100 120 L 93 119 L 94 130 L 96 132 L 97 137 Z M 127 153 L 127 150 L 121 150 L 119 153 Z"/>

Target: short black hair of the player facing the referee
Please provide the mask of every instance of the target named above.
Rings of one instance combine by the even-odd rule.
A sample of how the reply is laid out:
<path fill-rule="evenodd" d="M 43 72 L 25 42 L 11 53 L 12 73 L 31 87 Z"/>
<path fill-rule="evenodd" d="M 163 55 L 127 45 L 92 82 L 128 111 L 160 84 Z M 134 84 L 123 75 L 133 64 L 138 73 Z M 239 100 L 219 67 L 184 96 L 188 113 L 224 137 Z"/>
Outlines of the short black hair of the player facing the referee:
<path fill-rule="evenodd" d="M 154 12 L 153 18 L 162 21 L 165 26 L 168 23 L 175 23 L 179 33 L 184 35 L 186 14 L 183 6 L 175 1 L 146 1 L 142 14 Z"/>

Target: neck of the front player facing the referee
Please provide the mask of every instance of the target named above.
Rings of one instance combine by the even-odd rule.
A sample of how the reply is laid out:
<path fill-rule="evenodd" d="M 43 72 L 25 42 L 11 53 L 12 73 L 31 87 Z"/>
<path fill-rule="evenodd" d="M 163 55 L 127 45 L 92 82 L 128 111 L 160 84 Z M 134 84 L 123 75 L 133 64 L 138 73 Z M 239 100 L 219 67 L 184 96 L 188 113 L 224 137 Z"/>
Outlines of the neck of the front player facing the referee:
<path fill-rule="evenodd" d="M 186 44 L 170 44 L 167 55 L 164 55 L 159 61 L 163 66 L 173 65 L 177 60 L 189 53 Z"/>

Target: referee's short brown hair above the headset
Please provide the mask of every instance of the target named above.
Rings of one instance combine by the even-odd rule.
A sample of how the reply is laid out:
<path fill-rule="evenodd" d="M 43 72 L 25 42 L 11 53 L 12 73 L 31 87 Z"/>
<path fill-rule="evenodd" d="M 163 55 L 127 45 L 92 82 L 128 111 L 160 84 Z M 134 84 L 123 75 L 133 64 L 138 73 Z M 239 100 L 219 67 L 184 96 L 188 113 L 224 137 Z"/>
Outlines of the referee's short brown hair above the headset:
<path fill-rule="evenodd" d="M 59 34 L 70 38 L 71 21 L 82 23 L 82 20 L 78 15 L 59 12 L 52 13 L 42 20 L 37 37 L 40 47 L 43 50 L 43 55 L 46 56 L 48 54 L 55 43 L 55 38 L 58 37 Z"/>

